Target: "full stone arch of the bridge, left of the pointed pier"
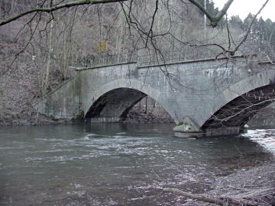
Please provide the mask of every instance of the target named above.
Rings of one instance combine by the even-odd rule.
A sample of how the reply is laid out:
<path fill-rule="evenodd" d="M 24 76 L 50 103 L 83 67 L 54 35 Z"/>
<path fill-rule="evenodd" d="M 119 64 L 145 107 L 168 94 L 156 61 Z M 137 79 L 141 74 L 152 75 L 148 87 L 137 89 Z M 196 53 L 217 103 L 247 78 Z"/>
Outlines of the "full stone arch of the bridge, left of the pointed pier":
<path fill-rule="evenodd" d="M 153 98 L 174 119 L 170 104 L 159 90 L 139 80 L 122 78 L 104 84 L 83 100 L 85 119 L 95 122 L 118 122 L 146 95 Z"/>

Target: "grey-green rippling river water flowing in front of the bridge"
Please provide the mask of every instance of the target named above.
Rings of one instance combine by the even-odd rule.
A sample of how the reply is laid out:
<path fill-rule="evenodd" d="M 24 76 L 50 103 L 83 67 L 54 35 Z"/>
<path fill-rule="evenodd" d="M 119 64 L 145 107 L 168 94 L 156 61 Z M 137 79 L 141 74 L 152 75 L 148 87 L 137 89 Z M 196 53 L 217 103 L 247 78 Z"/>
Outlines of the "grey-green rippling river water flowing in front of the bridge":
<path fill-rule="evenodd" d="M 162 187 L 211 190 L 211 180 L 270 161 L 275 130 L 180 139 L 173 125 L 0 129 L 0 205 L 174 205 Z"/>

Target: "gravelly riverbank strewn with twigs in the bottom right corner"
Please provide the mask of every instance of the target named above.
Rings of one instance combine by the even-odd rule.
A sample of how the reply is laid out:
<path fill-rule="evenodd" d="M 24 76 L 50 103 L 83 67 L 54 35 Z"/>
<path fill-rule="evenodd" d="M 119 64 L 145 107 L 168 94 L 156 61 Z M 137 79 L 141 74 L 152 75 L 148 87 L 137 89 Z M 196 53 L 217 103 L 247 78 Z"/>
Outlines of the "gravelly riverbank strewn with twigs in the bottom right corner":
<path fill-rule="evenodd" d="M 212 179 L 210 183 L 211 190 L 198 195 L 216 199 L 243 199 L 256 203 L 256 205 L 275 205 L 274 168 L 274 160 L 265 161 L 254 168 L 246 168 L 226 176 L 219 176 L 216 179 Z M 178 196 L 177 198 L 180 199 L 183 196 Z M 188 201 L 184 205 L 213 204 L 188 198 Z"/>

